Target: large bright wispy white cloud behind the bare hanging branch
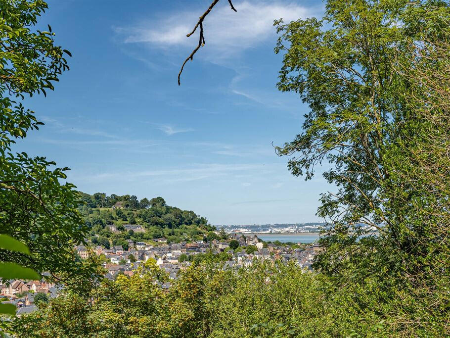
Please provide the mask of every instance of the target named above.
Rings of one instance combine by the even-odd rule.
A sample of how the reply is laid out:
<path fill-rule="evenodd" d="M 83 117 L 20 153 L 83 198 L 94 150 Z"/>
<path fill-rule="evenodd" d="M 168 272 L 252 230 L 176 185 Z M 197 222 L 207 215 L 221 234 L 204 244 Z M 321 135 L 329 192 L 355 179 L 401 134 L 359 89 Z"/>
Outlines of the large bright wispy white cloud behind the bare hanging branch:
<path fill-rule="evenodd" d="M 218 4 L 203 24 L 207 46 L 210 51 L 220 51 L 222 57 L 253 48 L 273 37 L 274 19 L 293 21 L 314 15 L 318 8 L 293 2 L 241 1 L 235 3 L 237 12 L 234 12 L 225 2 Z M 196 44 L 195 35 L 187 39 L 186 34 L 192 30 L 202 10 L 204 8 L 199 6 L 195 11 L 176 12 L 159 22 L 143 22 L 114 30 L 124 43 L 150 43 L 161 48 L 192 46 Z"/>

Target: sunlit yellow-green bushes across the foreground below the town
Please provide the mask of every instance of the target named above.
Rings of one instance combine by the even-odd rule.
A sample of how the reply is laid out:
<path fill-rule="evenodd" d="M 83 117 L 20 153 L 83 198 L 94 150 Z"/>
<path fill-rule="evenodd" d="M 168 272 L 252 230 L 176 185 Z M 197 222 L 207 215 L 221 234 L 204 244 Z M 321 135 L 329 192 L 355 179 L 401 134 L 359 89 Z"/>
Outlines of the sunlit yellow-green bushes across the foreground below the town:
<path fill-rule="evenodd" d="M 377 308 L 295 265 L 255 264 L 238 274 L 207 263 L 167 275 L 149 261 L 139 276 L 66 293 L 15 322 L 22 337 L 388 337 Z M 270 281 L 270 283 L 268 283 Z M 358 336 L 356 333 L 360 333 Z M 352 335 L 354 334 L 354 335 Z"/>

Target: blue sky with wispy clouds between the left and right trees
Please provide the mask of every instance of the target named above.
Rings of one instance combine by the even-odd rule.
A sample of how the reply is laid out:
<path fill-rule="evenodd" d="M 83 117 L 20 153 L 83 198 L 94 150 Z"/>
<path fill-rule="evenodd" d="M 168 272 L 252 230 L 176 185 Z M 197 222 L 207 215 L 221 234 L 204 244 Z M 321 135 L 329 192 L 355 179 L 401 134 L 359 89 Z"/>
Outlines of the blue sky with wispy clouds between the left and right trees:
<path fill-rule="evenodd" d="M 206 45 L 184 58 L 210 1 L 49 1 L 40 24 L 69 49 L 69 72 L 28 99 L 45 122 L 17 150 L 68 166 L 87 193 L 162 196 L 215 225 L 316 221 L 321 175 L 293 177 L 275 155 L 308 107 L 276 89 L 273 19 L 320 15 L 316 1 L 222 0 Z"/>

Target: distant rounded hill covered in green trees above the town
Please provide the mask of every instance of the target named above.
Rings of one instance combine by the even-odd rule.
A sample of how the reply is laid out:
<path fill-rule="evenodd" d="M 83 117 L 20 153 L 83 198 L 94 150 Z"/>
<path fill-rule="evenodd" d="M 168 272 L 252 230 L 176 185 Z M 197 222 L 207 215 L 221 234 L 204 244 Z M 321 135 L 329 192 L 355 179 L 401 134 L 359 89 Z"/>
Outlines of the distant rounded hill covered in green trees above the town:
<path fill-rule="evenodd" d="M 211 240 L 216 234 L 216 228 L 208 224 L 204 217 L 193 211 L 181 210 L 166 205 L 162 197 L 150 200 L 136 196 L 119 196 L 104 193 L 89 195 L 81 193 L 83 204 L 79 207 L 84 216 L 85 225 L 90 229 L 90 242 L 93 245 L 102 245 L 109 248 L 112 245 L 122 245 L 128 249 L 128 242 L 151 241 L 155 238 L 165 237 L 171 242 Z M 123 202 L 121 208 L 112 208 L 117 202 Z M 140 225 L 145 232 L 127 231 L 124 224 Z M 108 225 L 115 225 L 119 233 L 113 233 Z"/>

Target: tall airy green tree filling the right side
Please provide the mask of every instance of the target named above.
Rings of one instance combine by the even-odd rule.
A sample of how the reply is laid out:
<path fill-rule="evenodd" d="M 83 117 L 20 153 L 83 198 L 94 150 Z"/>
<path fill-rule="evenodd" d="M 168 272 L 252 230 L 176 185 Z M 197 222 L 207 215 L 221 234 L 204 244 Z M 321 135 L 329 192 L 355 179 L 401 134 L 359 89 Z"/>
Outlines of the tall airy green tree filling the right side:
<path fill-rule="evenodd" d="M 329 227 L 315 269 L 361 309 L 377 299 L 400 336 L 414 336 L 411 321 L 442 330 L 450 302 L 450 194 L 439 179 L 449 165 L 449 23 L 448 1 L 433 0 L 328 0 L 321 20 L 275 22 L 278 88 L 310 107 L 303 132 L 277 151 L 306 179 L 328 162 L 324 177 L 337 186 L 321 195 Z"/>

